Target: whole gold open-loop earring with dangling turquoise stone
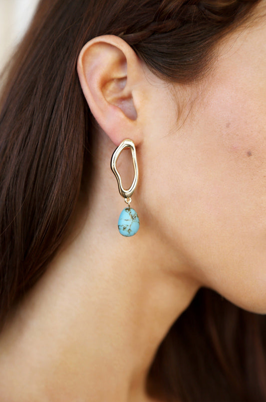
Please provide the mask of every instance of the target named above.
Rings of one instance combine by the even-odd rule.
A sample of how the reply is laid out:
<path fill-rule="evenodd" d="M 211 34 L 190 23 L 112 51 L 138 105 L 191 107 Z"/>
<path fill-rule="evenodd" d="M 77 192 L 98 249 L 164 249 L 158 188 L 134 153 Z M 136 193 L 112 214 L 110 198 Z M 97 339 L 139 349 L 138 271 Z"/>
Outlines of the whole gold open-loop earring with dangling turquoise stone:
<path fill-rule="evenodd" d="M 132 159 L 133 159 L 133 167 L 134 167 L 134 179 L 131 184 L 131 187 L 128 190 L 125 190 L 123 188 L 121 176 L 118 173 L 118 170 L 116 168 L 117 159 L 118 159 L 120 153 L 125 148 L 131 149 L 131 154 L 132 154 Z M 135 188 L 138 183 L 139 170 L 138 170 L 138 163 L 137 163 L 137 157 L 136 157 L 136 148 L 135 148 L 135 144 L 132 140 L 125 139 L 116 148 L 116 150 L 114 151 L 112 158 L 111 158 L 111 169 L 117 179 L 119 193 L 122 195 L 122 197 L 124 197 L 125 202 L 128 204 L 128 207 L 123 209 L 123 211 L 121 212 L 121 214 L 119 216 L 118 229 L 119 229 L 119 232 L 121 233 L 121 235 L 123 235 L 123 236 L 126 236 L 126 237 L 133 236 L 139 230 L 139 217 L 138 217 L 137 212 L 133 208 L 131 208 L 130 203 L 131 203 L 131 196 L 132 196 L 133 192 L 135 191 Z"/>

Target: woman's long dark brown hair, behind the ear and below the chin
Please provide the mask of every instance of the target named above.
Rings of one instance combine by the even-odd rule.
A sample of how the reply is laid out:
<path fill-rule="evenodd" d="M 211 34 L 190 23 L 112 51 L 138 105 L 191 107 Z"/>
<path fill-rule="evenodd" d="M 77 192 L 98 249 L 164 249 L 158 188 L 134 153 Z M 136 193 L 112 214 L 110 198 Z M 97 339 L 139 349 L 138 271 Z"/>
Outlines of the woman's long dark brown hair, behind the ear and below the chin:
<path fill-rule="evenodd" d="M 156 74 L 190 83 L 259 0 L 42 0 L 0 100 L 0 324 L 63 243 L 93 153 L 76 62 L 101 34 L 127 41 Z M 88 180 L 88 179 L 87 179 Z M 201 289 L 149 375 L 167 401 L 266 401 L 266 320 Z"/>

